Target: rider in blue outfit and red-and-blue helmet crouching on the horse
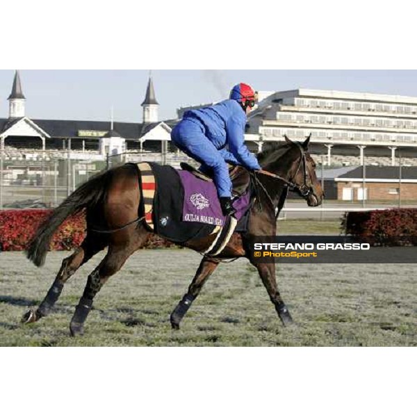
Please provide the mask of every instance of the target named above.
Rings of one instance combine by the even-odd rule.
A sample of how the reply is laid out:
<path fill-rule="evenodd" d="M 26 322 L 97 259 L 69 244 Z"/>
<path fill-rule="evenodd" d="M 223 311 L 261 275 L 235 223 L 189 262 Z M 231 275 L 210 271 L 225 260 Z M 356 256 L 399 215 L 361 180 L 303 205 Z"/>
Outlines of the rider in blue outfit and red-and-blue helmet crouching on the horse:
<path fill-rule="evenodd" d="M 202 164 L 200 170 L 213 170 L 224 215 L 236 212 L 231 201 L 231 180 L 226 163 L 243 165 L 248 170 L 261 170 L 244 142 L 246 115 L 254 104 L 255 93 L 250 85 L 237 84 L 231 89 L 228 100 L 186 111 L 171 132 L 174 144 Z"/>

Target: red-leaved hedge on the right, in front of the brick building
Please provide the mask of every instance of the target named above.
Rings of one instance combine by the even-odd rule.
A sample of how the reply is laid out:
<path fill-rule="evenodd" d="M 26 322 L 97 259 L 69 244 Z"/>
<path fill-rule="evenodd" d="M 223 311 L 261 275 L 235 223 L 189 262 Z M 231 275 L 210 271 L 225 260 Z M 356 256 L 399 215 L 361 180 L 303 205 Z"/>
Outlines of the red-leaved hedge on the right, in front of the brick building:
<path fill-rule="evenodd" d="M 417 209 L 353 211 L 345 214 L 342 229 L 373 245 L 417 245 Z"/>

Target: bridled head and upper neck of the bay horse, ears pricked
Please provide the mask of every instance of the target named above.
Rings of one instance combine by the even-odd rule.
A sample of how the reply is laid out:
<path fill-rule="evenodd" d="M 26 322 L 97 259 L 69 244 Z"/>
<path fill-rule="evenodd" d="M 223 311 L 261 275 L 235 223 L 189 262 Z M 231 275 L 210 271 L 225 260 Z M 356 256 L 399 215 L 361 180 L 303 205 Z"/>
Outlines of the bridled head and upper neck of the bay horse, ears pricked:
<path fill-rule="evenodd" d="M 284 145 L 272 147 L 272 152 L 262 153 L 259 160 L 263 169 L 286 179 L 290 189 L 309 206 L 320 206 L 324 193 L 316 176 L 316 163 L 309 154 L 310 136 L 304 142 L 293 142 L 284 136 Z"/>

